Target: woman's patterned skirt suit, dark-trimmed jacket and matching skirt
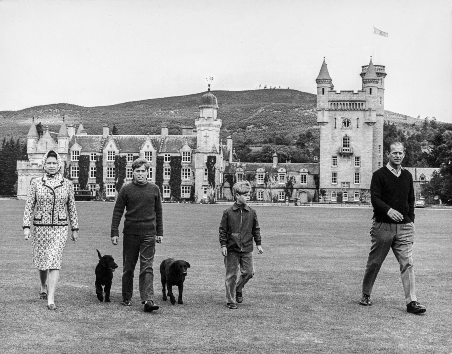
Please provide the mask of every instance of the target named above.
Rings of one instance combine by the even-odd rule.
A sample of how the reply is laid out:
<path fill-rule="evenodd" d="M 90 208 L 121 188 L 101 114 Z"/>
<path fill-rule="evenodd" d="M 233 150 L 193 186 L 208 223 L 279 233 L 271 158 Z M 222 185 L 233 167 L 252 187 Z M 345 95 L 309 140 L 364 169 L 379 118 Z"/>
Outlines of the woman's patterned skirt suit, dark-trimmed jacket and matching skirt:
<path fill-rule="evenodd" d="M 33 216 L 33 210 L 37 211 Z M 68 218 L 71 230 L 78 230 L 72 182 L 56 175 L 43 175 L 31 181 L 24 212 L 23 227 L 33 220 L 33 263 L 39 270 L 61 269 L 61 259 L 68 235 Z"/>

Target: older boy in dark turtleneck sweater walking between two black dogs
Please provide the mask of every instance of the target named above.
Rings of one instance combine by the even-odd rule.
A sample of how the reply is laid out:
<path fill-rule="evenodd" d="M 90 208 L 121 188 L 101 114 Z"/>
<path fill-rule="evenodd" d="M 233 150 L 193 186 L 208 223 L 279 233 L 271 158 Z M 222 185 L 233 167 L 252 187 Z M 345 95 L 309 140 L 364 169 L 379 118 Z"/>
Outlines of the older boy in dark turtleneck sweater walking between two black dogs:
<path fill-rule="evenodd" d="M 132 162 L 134 180 L 119 191 L 113 209 L 111 240 L 118 245 L 118 227 L 124 208 L 124 241 L 122 245 L 122 305 L 131 306 L 133 272 L 140 256 L 140 297 L 144 311 L 151 312 L 159 307 L 154 303 L 155 243 L 163 240 L 163 218 L 160 189 L 147 181 L 149 165 L 146 159 Z"/>

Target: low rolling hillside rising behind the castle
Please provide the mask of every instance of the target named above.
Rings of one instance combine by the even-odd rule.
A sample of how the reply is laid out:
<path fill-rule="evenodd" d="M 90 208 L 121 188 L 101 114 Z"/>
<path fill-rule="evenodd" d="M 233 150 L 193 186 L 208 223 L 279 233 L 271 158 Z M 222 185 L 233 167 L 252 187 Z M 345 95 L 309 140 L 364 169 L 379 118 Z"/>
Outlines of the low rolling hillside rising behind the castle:
<path fill-rule="evenodd" d="M 218 116 L 222 119 L 221 138 L 231 135 L 237 145 L 279 143 L 292 145 L 301 133 L 318 137 L 316 95 L 297 90 L 212 91 L 217 96 Z M 73 104 L 48 104 L 20 111 L 0 112 L 0 138 L 24 138 L 31 119 L 58 131 L 64 116 L 67 124 L 80 122 L 89 134 L 100 134 L 102 125 L 113 123 L 120 134 L 158 134 L 162 123 L 170 134 L 180 134 L 182 126 L 194 127 L 203 93 L 146 99 L 111 106 L 82 107 Z M 388 120 L 398 123 L 422 121 L 388 112 Z M 278 144 L 278 145 L 279 145 Z"/>

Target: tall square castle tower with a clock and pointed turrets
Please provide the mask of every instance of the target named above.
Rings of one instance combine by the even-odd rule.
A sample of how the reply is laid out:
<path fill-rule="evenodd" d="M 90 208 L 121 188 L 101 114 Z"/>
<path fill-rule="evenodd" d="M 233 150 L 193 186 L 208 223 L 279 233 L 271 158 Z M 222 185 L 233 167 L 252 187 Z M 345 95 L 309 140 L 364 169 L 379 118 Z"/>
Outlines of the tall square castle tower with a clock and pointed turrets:
<path fill-rule="evenodd" d="M 384 66 L 362 67 L 362 90 L 332 90 L 325 59 L 317 83 L 320 189 L 324 202 L 369 203 L 372 173 L 381 167 Z"/>

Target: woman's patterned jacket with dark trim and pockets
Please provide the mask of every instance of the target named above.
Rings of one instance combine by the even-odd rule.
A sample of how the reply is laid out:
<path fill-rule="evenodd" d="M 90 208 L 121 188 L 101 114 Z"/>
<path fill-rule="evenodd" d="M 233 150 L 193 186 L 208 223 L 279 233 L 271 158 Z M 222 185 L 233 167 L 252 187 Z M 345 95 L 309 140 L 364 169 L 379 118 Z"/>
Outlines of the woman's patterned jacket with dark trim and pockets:
<path fill-rule="evenodd" d="M 25 204 L 23 228 L 30 227 L 32 218 L 34 226 L 68 226 L 67 205 L 71 230 L 79 229 L 72 182 L 60 174 L 55 178 L 58 179 L 55 187 L 49 184 L 49 178 L 46 175 L 31 181 Z M 35 205 L 38 207 L 33 217 Z"/>

